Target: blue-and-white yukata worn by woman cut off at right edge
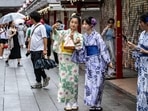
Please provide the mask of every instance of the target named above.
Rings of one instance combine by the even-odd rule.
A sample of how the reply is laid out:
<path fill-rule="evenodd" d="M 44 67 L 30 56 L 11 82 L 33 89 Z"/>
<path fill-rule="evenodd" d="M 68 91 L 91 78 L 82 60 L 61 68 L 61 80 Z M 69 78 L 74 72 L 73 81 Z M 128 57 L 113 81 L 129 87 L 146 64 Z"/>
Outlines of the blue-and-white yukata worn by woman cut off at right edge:
<path fill-rule="evenodd" d="M 135 57 L 135 67 L 138 70 L 137 81 L 137 111 L 148 111 L 148 54 L 140 53 L 139 49 L 148 50 L 148 32 L 143 31 L 139 37 Z"/>

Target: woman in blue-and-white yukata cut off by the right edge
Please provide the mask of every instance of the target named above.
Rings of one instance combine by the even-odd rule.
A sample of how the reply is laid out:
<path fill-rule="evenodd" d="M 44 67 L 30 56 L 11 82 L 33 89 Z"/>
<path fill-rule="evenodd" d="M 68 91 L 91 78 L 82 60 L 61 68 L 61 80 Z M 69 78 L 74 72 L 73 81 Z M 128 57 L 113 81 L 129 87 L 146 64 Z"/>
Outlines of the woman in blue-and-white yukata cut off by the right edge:
<path fill-rule="evenodd" d="M 138 45 L 128 42 L 128 46 L 135 49 L 133 56 L 138 70 L 137 111 L 148 111 L 148 13 L 141 15 L 139 25 L 144 31 Z"/>

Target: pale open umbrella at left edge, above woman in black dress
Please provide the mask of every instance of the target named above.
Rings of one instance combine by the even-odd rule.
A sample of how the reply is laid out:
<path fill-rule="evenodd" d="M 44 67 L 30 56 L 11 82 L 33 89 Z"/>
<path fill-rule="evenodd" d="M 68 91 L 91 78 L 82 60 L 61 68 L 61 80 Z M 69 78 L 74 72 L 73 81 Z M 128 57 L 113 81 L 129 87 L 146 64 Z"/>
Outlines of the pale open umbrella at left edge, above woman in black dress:
<path fill-rule="evenodd" d="M 25 18 L 25 17 L 26 17 L 25 15 L 18 12 L 8 13 L 0 18 L 0 24 L 8 23 L 17 19 Z"/>

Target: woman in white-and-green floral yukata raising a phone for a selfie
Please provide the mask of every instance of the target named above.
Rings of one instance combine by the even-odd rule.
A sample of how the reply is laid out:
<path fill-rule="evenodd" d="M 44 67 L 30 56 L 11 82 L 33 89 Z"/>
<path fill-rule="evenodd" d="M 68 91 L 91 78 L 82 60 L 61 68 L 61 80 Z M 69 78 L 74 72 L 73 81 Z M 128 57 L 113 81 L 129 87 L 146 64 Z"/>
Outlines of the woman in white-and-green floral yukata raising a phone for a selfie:
<path fill-rule="evenodd" d="M 77 29 L 80 24 L 80 17 L 73 15 L 70 18 L 70 28 L 68 30 L 57 30 L 59 24 L 54 24 L 52 39 L 54 40 L 53 50 L 59 57 L 59 89 L 58 102 L 65 103 L 65 110 L 72 111 L 78 109 L 78 76 L 79 65 L 71 61 L 72 53 L 82 46 L 82 34 Z M 74 48 L 65 48 L 64 43 L 72 40 Z M 72 44 L 70 44 L 72 45 Z"/>

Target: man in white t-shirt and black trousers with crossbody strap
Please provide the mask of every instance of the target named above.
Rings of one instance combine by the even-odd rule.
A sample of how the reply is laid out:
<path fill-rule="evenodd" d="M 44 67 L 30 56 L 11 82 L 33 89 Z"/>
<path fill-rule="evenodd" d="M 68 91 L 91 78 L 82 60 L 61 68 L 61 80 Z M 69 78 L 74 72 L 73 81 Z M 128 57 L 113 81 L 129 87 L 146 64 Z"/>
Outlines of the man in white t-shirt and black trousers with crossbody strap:
<path fill-rule="evenodd" d="M 47 77 L 44 69 L 36 69 L 35 63 L 42 56 L 47 54 L 47 34 L 44 25 L 40 23 L 41 16 L 38 12 L 32 12 L 30 19 L 33 23 L 31 27 L 31 37 L 28 45 L 28 51 L 31 52 L 31 61 L 33 63 L 36 82 L 31 88 L 42 88 L 49 84 L 50 77 Z M 41 83 L 43 78 L 43 85 Z"/>

